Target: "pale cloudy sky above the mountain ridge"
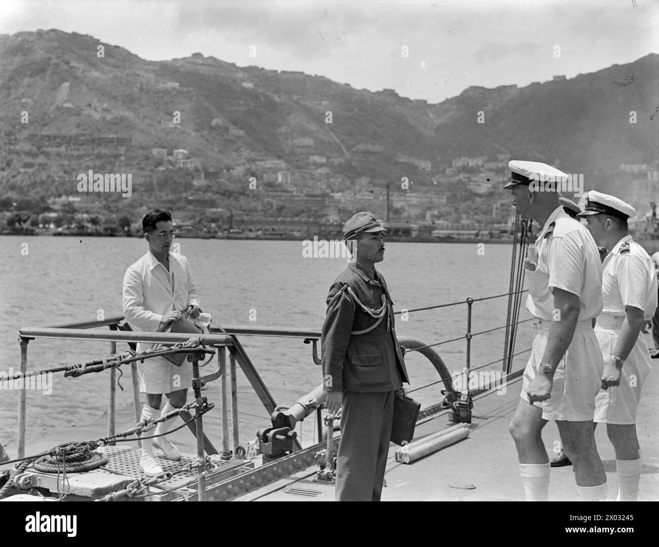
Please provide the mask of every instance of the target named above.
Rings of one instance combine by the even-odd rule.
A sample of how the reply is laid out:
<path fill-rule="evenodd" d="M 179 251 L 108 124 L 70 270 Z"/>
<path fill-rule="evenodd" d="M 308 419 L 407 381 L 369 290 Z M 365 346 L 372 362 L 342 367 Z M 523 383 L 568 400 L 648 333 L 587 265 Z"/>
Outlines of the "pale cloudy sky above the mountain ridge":
<path fill-rule="evenodd" d="M 525 86 L 659 53 L 659 1 L 0 2 L 0 34 L 40 28 L 151 61 L 198 52 L 436 103 L 469 86 Z"/>

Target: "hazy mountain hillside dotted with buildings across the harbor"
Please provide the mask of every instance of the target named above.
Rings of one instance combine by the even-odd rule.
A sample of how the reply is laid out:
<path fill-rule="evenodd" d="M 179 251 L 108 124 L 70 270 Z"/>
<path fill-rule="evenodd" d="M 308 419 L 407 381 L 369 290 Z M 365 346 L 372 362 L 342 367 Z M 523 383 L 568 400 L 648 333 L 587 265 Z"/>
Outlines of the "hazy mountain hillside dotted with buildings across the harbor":
<path fill-rule="evenodd" d="M 445 181 L 451 161 L 501 153 L 584 173 L 587 188 L 606 189 L 621 163 L 657 159 L 658 69 L 659 55 L 650 54 L 570 80 L 472 87 L 429 104 L 199 53 L 145 61 L 59 30 L 3 35 L 0 191 L 36 200 L 74 194 L 76 176 L 93 169 L 133 175 L 135 199 L 94 196 L 106 209 L 137 208 L 154 195 L 205 196 L 262 214 L 279 206 L 250 193 L 250 177 L 259 190 L 307 194 L 350 190 L 360 177 L 401 192 L 409 177 L 415 190 L 445 189 L 467 203 L 471 194 Z M 179 160 L 195 161 L 173 158 L 177 149 L 187 151 Z"/>

